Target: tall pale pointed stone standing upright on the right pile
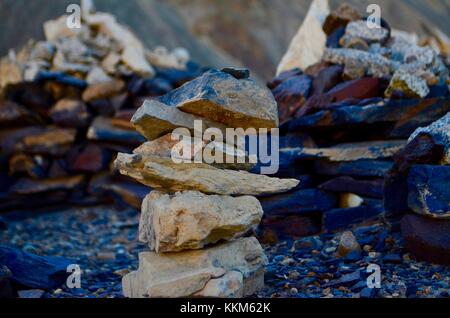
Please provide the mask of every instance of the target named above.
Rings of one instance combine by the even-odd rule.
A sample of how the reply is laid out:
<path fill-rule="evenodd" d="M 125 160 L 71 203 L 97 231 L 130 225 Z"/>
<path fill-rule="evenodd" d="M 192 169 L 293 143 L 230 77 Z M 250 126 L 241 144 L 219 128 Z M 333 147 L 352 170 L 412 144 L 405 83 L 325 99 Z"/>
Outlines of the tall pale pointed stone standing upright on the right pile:
<path fill-rule="evenodd" d="M 306 69 L 320 61 L 327 36 L 322 24 L 330 13 L 328 0 L 314 0 L 305 20 L 277 68 L 277 75 L 293 68 Z"/>

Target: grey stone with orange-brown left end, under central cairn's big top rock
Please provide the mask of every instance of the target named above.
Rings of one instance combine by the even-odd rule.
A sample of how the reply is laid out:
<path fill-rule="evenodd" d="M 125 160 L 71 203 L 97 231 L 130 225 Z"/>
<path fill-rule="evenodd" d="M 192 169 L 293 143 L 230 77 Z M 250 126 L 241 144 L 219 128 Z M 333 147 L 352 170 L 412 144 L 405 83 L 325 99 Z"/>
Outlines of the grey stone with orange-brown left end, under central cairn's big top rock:
<path fill-rule="evenodd" d="M 197 129 L 194 121 L 200 121 Z M 203 134 L 208 128 L 217 128 L 226 132 L 222 124 L 184 113 L 176 107 L 170 107 L 156 100 L 146 100 L 134 114 L 131 123 L 148 140 L 154 140 L 161 136 L 172 133 L 177 128 L 187 128 L 191 132 Z"/>

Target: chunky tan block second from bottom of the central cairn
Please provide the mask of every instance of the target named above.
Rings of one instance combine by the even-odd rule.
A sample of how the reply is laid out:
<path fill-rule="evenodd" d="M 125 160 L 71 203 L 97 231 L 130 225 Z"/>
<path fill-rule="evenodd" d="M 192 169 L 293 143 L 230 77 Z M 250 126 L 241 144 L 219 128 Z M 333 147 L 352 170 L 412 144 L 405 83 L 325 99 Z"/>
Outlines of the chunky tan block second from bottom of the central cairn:
<path fill-rule="evenodd" d="M 236 239 L 261 222 L 263 210 L 251 196 L 174 195 L 153 191 L 142 204 L 139 240 L 150 250 L 179 252 Z"/>

